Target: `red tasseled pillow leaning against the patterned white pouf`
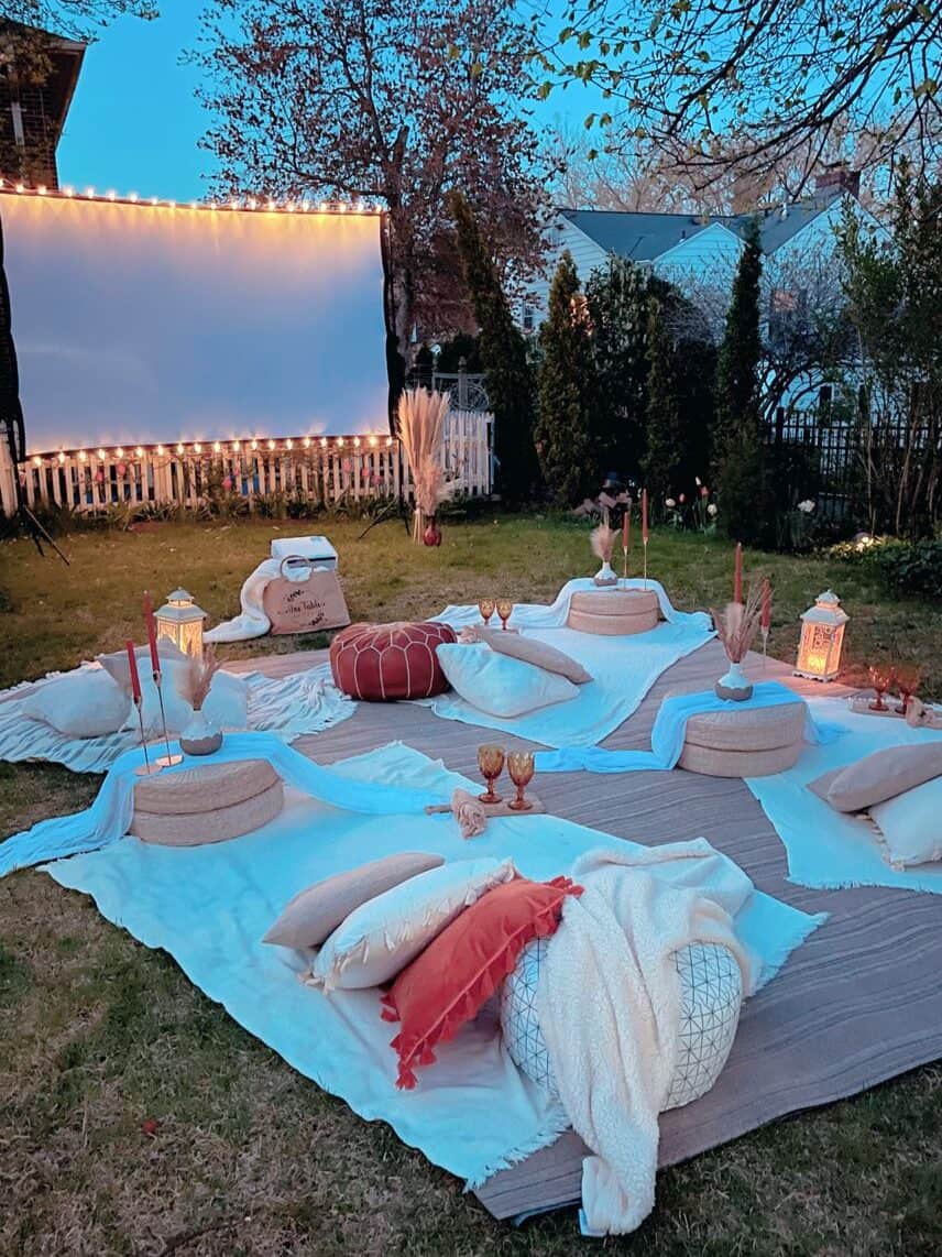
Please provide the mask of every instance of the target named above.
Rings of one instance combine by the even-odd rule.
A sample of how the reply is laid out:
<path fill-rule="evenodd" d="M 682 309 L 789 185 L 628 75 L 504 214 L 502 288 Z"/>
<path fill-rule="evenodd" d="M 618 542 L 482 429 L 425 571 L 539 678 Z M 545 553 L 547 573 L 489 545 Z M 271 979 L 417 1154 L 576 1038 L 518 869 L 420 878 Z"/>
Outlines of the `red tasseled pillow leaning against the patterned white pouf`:
<path fill-rule="evenodd" d="M 432 1065 L 435 1045 L 477 1016 L 526 944 L 555 933 L 566 895 L 582 892 L 569 877 L 515 877 L 466 908 L 402 970 L 382 998 L 383 1019 L 402 1023 L 391 1043 L 399 1056 L 398 1087 L 414 1087 L 416 1066 Z"/>

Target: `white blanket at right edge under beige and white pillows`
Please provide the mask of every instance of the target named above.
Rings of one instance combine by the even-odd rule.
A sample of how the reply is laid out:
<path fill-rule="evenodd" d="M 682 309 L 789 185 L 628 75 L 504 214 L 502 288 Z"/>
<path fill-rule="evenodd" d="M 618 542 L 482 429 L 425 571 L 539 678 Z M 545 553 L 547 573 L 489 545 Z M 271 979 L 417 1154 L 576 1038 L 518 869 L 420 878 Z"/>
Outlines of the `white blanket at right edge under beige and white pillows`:
<path fill-rule="evenodd" d="M 898 872 L 888 864 L 868 817 L 835 812 L 808 789 L 808 782 L 831 768 L 843 768 L 883 747 L 938 742 L 942 729 L 911 729 L 906 720 L 858 714 L 844 699 L 811 698 L 808 705 L 816 723 L 843 730 L 842 737 L 806 747 L 785 773 L 746 779 L 785 845 L 789 880 L 823 890 L 898 886 L 942 894 L 942 862 Z"/>

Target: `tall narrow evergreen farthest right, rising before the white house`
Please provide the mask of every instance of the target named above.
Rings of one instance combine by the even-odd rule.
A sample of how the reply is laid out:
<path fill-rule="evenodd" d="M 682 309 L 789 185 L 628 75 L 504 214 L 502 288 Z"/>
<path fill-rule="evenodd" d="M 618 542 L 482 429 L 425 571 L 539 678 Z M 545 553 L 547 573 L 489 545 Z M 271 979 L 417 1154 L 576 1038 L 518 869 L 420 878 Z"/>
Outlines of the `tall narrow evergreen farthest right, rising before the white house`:
<path fill-rule="evenodd" d="M 765 450 L 759 405 L 762 344 L 759 282 L 762 255 L 754 228 L 742 250 L 726 331 L 716 365 L 715 480 L 720 520 L 727 537 L 761 544 L 774 535 L 775 519 L 765 484 Z M 774 512 L 771 512 L 774 514 Z"/>

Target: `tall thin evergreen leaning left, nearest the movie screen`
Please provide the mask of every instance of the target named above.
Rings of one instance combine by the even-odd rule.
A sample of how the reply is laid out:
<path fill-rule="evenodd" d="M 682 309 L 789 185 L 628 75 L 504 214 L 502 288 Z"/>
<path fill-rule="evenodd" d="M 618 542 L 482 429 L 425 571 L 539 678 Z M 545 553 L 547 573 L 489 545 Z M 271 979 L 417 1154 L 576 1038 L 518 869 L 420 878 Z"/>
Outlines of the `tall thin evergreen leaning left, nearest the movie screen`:
<path fill-rule="evenodd" d="M 500 491 L 509 502 L 525 500 L 538 479 L 534 450 L 534 380 L 526 342 L 514 323 L 494 258 L 467 200 L 448 196 L 461 270 L 479 327 L 479 351 L 494 411 L 494 453 Z"/>

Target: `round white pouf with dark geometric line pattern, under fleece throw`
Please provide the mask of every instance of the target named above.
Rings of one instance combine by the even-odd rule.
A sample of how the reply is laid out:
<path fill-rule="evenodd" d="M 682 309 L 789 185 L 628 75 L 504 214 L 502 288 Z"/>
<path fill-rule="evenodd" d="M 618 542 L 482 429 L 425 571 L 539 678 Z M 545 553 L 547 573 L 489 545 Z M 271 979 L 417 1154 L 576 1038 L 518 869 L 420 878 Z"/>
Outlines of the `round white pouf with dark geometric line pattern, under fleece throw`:
<path fill-rule="evenodd" d="M 511 1061 L 559 1097 L 546 1042 L 536 1016 L 536 984 L 550 939 L 534 939 L 520 953 L 500 997 L 500 1024 Z M 725 947 L 695 943 L 674 952 L 681 979 L 681 1027 L 666 1109 L 698 1100 L 726 1065 L 742 1003 L 742 974 Z"/>

